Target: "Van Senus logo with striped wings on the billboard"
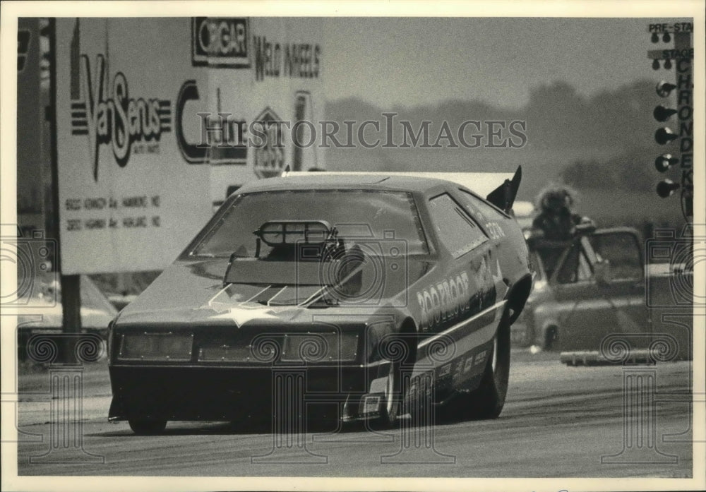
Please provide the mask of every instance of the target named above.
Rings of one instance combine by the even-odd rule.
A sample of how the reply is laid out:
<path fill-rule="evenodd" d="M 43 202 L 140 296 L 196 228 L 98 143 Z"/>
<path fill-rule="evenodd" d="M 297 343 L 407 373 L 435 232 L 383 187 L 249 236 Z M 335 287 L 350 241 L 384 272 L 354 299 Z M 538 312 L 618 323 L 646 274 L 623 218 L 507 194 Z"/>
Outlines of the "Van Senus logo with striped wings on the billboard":
<path fill-rule="evenodd" d="M 72 65 L 71 76 L 78 77 L 78 67 Z M 131 98 L 128 81 L 122 72 L 115 74 L 107 93 L 106 68 L 103 55 L 96 58 L 96 76 L 91 79 L 88 56 L 80 56 L 80 84 L 72 80 L 71 134 L 88 136 L 93 179 L 98 181 L 98 150 L 111 145 L 115 161 L 125 167 L 136 142 L 158 143 L 163 132 L 172 131 L 172 103 L 169 100 Z M 147 152 L 158 152 L 149 146 Z"/>

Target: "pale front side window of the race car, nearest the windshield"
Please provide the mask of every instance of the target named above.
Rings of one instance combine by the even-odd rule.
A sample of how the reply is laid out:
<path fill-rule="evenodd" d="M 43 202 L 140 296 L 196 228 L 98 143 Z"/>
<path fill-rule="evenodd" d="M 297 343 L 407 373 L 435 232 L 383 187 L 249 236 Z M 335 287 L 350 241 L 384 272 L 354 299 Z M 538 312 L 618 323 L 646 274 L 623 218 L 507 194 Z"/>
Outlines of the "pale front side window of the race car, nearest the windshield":
<path fill-rule="evenodd" d="M 429 200 L 429 213 L 439 241 L 455 258 L 488 241 L 478 224 L 447 193 Z"/>

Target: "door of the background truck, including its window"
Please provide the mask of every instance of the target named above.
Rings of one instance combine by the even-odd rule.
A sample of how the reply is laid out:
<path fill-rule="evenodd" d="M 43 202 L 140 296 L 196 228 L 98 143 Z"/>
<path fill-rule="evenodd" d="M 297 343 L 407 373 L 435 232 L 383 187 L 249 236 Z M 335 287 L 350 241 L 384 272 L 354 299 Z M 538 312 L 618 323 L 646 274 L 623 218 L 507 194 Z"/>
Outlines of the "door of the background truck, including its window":
<path fill-rule="evenodd" d="M 558 324 L 552 348 L 598 350 L 608 335 L 648 332 L 638 244 L 630 232 L 608 230 L 568 248 L 552 277 Z"/>

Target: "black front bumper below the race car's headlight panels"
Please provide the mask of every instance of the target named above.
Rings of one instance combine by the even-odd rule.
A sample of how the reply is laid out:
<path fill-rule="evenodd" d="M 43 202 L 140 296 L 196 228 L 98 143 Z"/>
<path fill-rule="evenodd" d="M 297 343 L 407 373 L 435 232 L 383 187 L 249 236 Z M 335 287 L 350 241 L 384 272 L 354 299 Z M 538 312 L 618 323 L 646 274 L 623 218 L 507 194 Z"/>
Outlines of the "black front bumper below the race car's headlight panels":
<path fill-rule="evenodd" d="M 133 366 L 109 368 L 110 420 L 273 418 L 292 412 L 356 420 L 373 380 L 390 364 L 368 366 Z"/>

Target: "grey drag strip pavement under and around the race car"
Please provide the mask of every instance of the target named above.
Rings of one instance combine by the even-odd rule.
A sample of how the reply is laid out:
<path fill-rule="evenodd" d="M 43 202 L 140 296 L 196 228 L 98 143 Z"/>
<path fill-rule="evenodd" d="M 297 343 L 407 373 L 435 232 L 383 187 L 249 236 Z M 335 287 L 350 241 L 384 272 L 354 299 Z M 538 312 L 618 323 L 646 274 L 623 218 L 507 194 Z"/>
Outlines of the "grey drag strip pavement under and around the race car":
<path fill-rule="evenodd" d="M 34 463 L 50 449 L 44 438 L 18 445 L 18 474 L 692 476 L 690 363 L 567 367 L 524 359 L 513 361 L 508 401 L 496 420 L 445 423 L 427 433 L 404 424 L 381 433 L 352 425 L 333 435 L 307 433 L 304 445 L 275 442 L 262 426 L 222 423 L 170 422 L 161 436 L 134 436 L 126 422 L 106 421 L 109 387 L 98 385 L 90 390 L 95 401 L 86 395 L 83 450 L 104 463 L 61 446 L 44 459 L 54 463 Z M 644 386 L 642 414 L 626 420 L 635 407 L 623 404 L 623 386 L 638 377 L 655 386 Z M 19 412 L 20 431 L 49 436 L 49 419 L 36 419 L 37 409 L 26 424 L 21 403 Z"/>

